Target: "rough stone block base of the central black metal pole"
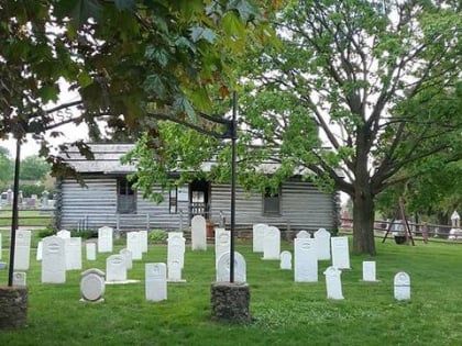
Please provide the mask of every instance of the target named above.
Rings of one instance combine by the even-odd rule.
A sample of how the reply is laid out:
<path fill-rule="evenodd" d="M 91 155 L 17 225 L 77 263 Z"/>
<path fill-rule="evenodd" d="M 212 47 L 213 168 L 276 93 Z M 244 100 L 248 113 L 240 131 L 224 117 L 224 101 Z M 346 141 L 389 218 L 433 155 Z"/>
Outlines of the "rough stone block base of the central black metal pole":
<path fill-rule="evenodd" d="M 250 287 L 245 282 L 213 282 L 211 286 L 212 315 L 217 320 L 249 323 Z"/>

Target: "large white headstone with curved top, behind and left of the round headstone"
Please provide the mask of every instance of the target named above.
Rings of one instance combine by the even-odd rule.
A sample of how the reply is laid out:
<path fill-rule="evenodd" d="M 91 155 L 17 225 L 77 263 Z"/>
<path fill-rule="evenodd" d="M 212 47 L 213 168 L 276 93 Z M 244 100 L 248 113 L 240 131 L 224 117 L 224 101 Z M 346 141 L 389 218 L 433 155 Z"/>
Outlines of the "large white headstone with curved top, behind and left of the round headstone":
<path fill-rule="evenodd" d="M 42 282 L 66 282 L 65 239 L 58 236 L 43 238 Z"/>

